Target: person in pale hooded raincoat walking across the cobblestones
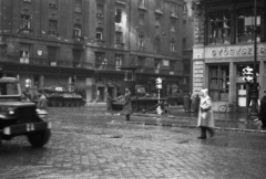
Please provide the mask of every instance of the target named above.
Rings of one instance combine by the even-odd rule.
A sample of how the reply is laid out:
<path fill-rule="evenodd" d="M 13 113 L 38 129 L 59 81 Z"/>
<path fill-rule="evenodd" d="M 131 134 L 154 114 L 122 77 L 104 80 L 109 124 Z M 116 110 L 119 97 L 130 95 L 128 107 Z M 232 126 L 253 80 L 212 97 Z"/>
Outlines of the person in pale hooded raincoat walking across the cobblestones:
<path fill-rule="evenodd" d="M 200 139 L 206 139 L 206 131 L 209 133 L 211 137 L 214 136 L 214 119 L 213 119 L 213 110 L 212 110 L 212 99 L 208 96 L 208 90 L 204 88 L 200 93 L 201 103 L 200 103 L 200 112 L 197 126 L 201 128 Z"/>

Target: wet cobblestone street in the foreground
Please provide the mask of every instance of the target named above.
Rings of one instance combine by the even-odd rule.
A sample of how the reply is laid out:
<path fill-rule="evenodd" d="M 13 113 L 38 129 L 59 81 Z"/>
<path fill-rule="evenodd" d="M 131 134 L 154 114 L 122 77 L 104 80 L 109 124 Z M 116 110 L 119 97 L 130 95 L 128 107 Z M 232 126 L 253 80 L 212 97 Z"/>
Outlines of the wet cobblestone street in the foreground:
<path fill-rule="evenodd" d="M 102 109 L 49 113 L 53 128 L 44 148 L 32 148 L 25 137 L 3 141 L 0 178 L 260 179 L 266 173 L 265 134 L 217 130 L 200 140 L 197 128 L 135 125 Z"/>

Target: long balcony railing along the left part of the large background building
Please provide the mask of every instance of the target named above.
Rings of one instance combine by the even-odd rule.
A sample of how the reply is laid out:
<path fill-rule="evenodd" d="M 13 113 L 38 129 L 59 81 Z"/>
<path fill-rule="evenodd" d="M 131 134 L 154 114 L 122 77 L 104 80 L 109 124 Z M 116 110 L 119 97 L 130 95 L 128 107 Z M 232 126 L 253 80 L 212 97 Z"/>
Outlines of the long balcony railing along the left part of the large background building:
<path fill-rule="evenodd" d="M 0 55 L 0 62 L 32 64 L 32 65 L 40 65 L 40 66 L 93 69 L 93 65 L 89 62 L 65 61 L 65 60 L 59 60 L 59 59 L 20 57 L 20 56 Z"/>

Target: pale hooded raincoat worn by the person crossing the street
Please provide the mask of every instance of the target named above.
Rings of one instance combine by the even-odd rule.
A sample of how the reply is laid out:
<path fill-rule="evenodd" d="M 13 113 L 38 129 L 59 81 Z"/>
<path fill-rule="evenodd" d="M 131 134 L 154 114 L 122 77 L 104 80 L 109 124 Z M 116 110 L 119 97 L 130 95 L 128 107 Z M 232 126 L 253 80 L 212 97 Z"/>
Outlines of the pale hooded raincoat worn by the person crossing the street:
<path fill-rule="evenodd" d="M 203 97 L 200 103 L 197 126 L 198 127 L 214 127 L 214 118 L 212 110 L 212 99 L 207 94 L 207 90 L 202 90 Z"/>

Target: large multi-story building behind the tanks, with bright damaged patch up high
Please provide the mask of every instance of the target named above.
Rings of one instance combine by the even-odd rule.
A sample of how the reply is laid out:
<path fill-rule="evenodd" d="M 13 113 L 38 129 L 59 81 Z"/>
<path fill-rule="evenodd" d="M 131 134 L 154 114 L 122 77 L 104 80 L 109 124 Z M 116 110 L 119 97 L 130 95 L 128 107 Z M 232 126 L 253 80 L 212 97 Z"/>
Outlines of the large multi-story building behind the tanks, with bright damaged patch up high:
<path fill-rule="evenodd" d="M 116 96 L 121 66 L 163 95 L 188 83 L 182 62 L 183 0 L 1 0 L 0 65 L 32 88 Z M 131 78 L 131 72 L 126 73 Z"/>

